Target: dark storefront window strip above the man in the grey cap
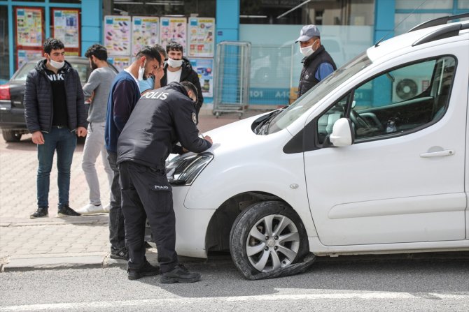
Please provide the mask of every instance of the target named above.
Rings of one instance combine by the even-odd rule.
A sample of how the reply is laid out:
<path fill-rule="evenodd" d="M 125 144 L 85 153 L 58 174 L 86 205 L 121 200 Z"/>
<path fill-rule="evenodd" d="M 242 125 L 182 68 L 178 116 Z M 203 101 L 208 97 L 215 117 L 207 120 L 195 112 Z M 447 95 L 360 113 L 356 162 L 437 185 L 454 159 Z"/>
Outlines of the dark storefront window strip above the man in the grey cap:
<path fill-rule="evenodd" d="M 374 24 L 374 0 L 241 0 L 240 12 L 241 24 Z"/>

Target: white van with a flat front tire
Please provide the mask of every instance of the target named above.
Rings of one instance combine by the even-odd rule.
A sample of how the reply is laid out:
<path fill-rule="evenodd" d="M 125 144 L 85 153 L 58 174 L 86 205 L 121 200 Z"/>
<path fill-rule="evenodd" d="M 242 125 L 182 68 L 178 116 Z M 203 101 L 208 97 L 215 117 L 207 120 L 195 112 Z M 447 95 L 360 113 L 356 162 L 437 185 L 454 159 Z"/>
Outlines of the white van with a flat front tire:
<path fill-rule="evenodd" d="M 447 20 L 377 43 L 288 108 L 173 158 L 179 255 L 230 249 L 246 276 L 308 252 L 469 250 L 469 22 Z"/>

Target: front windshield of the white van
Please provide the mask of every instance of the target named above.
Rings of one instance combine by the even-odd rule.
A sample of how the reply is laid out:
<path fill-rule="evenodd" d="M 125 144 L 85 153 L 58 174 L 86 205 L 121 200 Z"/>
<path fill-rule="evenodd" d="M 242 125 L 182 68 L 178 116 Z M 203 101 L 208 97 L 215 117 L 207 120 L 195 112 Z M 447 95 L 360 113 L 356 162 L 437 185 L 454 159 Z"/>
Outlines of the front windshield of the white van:
<path fill-rule="evenodd" d="M 304 112 L 307 112 L 311 107 L 316 105 L 321 98 L 330 94 L 330 92 L 342 84 L 342 82 L 356 75 L 356 73 L 360 72 L 360 70 L 363 70 L 363 68 L 366 68 L 371 63 L 366 52 L 363 52 L 355 59 L 349 61 L 349 63 L 335 70 L 334 73 L 309 89 L 309 91 L 301 97 L 300 101 L 295 101 L 295 103 L 277 114 L 270 122 L 267 134 L 276 133 L 290 126 L 290 124 L 304 114 Z"/>

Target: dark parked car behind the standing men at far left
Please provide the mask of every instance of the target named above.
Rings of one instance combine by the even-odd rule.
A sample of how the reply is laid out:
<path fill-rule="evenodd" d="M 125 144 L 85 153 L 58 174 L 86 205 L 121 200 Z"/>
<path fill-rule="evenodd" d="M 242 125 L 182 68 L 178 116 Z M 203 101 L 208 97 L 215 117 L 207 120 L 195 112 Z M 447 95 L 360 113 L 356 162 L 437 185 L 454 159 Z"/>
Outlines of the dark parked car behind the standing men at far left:
<path fill-rule="evenodd" d="M 90 77 L 90 62 L 85 57 L 66 57 L 71 66 L 78 70 L 81 84 L 87 82 Z M 18 69 L 8 83 L 0 86 L 0 128 L 3 139 L 6 142 L 18 142 L 21 136 L 29 133 L 25 121 L 25 96 L 26 77 L 29 71 L 34 69 L 38 60 L 28 61 Z M 112 66 L 110 64 L 110 66 Z M 116 73 L 118 70 L 112 66 Z M 88 105 L 87 105 L 88 107 Z"/>

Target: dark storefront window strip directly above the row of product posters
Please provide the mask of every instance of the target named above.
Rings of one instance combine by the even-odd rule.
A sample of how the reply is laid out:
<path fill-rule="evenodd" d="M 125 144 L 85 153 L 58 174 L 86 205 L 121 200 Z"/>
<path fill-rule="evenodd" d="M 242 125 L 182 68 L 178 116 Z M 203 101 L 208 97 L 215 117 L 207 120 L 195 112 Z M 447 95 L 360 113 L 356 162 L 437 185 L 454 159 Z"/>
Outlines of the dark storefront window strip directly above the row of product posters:
<path fill-rule="evenodd" d="M 130 16 L 190 16 L 197 14 L 200 17 L 215 17 L 215 5 L 216 0 L 114 0 L 111 14 Z"/>

